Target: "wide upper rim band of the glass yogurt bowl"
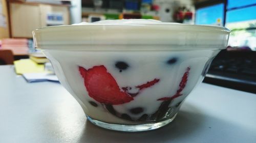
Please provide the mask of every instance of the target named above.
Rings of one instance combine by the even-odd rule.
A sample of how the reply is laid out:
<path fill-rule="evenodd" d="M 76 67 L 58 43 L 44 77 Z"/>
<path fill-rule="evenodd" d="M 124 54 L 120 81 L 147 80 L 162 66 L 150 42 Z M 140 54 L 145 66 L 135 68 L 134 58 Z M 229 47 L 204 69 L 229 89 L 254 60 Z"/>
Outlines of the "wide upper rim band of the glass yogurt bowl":
<path fill-rule="evenodd" d="M 146 50 L 146 46 L 153 45 L 155 50 L 161 50 L 163 47 L 166 50 L 225 49 L 229 33 L 228 28 L 217 25 L 164 22 L 161 24 L 59 25 L 41 27 L 32 32 L 35 47 L 39 49 L 87 49 L 81 46 L 99 45 L 104 50 L 116 50 L 106 45 L 129 45 L 129 47 L 140 45 L 143 47 L 142 49 L 138 47 L 138 50 Z M 126 46 L 120 50 L 129 50 L 129 47 Z"/>

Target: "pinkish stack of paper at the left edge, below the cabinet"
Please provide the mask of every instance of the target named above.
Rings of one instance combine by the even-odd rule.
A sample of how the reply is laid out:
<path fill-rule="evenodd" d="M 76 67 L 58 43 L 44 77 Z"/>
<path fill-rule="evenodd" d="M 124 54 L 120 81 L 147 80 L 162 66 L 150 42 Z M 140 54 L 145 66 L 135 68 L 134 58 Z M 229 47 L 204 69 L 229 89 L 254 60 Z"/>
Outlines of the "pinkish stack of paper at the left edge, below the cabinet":
<path fill-rule="evenodd" d="M 28 54 L 28 40 L 27 39 L 3 39 L 2 49 L 12 50 L 14 55 Z"/>

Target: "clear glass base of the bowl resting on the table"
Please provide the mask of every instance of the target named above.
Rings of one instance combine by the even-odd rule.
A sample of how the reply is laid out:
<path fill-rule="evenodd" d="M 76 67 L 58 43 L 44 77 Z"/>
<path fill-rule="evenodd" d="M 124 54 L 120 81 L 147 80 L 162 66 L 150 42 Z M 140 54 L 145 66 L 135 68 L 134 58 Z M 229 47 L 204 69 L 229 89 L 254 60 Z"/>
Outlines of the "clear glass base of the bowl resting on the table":
<path fill-rule="evenodd" d="M 176 115 L 177 113 L 172 118 L 167 119 L 165 121 L 158 122 L 158 123 L 139 124 L 139 125 L 122 125 L 122 124 L 105 123 L 105 122 L 92 119 L 89 116 L 87 116 L 87 119 L 94 125 L 97 125 L 101 128 L 115 130 L 115 131 L 139 132 L 139 131 L 149 131 L 149 130 L 155 130 L 155 129 L 161 128 L 169 124 L 170 122 L 172 122 L 175 119 Z"/>

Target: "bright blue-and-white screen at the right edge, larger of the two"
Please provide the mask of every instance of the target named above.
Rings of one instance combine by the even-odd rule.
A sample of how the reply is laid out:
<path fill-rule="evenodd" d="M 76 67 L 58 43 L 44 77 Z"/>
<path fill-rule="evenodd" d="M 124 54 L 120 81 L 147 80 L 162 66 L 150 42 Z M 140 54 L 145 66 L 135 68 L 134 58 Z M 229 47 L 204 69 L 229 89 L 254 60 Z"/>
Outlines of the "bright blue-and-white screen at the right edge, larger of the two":
<path fill-rule="evenodd" d="M 256 0 L 229 0 L 225 27 L 231 31 L 228 45 L 256 50 Z M 254 1 L 254 3 L 252 3 Z"/>

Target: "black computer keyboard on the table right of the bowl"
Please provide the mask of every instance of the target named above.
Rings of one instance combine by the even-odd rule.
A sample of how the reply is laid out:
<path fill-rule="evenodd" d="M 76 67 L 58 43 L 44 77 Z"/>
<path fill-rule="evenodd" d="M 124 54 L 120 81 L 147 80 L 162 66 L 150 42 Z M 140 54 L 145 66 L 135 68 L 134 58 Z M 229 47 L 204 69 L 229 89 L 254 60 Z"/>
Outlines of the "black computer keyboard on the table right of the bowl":
<path fill-rule="evenodd" d="M 212 61 L 204 82 L 256 93 L 256 52 L 222 50 Z"/>

